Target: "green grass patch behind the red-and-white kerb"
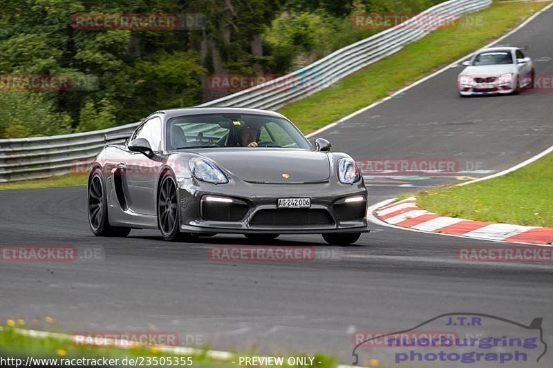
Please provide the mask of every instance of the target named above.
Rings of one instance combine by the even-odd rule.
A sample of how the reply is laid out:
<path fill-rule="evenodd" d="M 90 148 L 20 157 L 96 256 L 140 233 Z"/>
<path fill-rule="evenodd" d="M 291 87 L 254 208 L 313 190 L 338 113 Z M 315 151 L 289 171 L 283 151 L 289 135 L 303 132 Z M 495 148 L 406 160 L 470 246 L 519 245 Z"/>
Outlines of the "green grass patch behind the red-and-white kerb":
<path fill-rule="evenodd" d="M 507 175 L 416 194 L 427 211 L 469 220 L 553 227 L 553 154 Z"/>

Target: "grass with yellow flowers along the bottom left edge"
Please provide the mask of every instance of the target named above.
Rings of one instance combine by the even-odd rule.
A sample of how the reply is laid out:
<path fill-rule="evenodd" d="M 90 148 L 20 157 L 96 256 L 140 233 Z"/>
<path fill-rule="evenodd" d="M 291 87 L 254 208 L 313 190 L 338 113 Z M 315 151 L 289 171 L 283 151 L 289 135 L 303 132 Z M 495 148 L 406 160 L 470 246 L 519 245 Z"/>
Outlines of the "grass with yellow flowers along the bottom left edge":
<path fill-rule="evenodd" d="M 64 358 L 64 359 L 78 359 L 78 358 L 89 358 L 89 359 L 119 359 L 120 364 L 118 366 L 122 367 L 121 362 L 124 358 L 139 358 L 143 357 L 144 359 L 158 358 L 158 362 L 161 362 L 160 358 L 165 357 L 191 357 L 193 362 L 193 367 L 220 367 L 220 368 L 229 368 L 238 366 L 238 357 L 239 356 L 255 356 L 256 354 L 252 353 L 234 353 L 231 360 L 225 360 L 221 358 L 216 358 L 207 353 L 207 349 L 194 349 L 192 354 L 177 354 L 172 351 L 165 351 L 163 349 L 158 349 L 156 347 L 147 347 L 139 346 L 132 347 L 129 349 L 122 349 L 117 347 L 77 347 L 73 345 L 71 341 L 71 336 L 61 335 L 60 336 L 48 336 L 48 337 L 35 337 L 28 336 L 25 333 L 26 330 L 15 329 L 13 327 L 2 327 L 0 329 L 0 357 L 14 357 L 20 358 L 25 361 L 26 357 L 30 356 L 32 358 Z M 277 356 L 282 356 L 281 354 Z M 312 356 L 310 354 L 289 354 L 288 356 Z M 236 363 L 232 363 L 232 360 L 236 360 Z M 128 361 L 128 360 L 127 360 Z M 321 361 L 321 363 L 318 363 Z M 146 360 L 144 360 L 146 364 Z M 127 364 L 127 366 L 130 366 Z M 174 364 L 158 364 L 157 367 L 170 367 L 176 366 Z M 76 367 L 73 365 L 73 367 Z M 111 365 L 113 367 L 113 365 Z M 179 367 L 184 367 L 180 364 Z M 292 365 L 283 365 L 282 367 L 297 367 Z M 318 368 L 334 368 L 337 367 L 337 360 L 330 356 L 325 356 L 324 354 L 315 355 L 313 367 Z"/>

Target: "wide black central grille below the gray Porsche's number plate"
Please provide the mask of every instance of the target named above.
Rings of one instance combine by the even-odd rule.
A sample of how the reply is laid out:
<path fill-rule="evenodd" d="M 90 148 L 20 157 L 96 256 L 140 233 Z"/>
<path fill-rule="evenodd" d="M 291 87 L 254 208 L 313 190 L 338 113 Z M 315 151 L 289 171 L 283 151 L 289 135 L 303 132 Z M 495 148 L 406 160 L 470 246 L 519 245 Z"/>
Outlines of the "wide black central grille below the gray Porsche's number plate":
<path fill-rule="evenodd" d="M 265 209 L 256 212 L 251 226 L 332 225 L 334 220 L 324 209 Z"/>

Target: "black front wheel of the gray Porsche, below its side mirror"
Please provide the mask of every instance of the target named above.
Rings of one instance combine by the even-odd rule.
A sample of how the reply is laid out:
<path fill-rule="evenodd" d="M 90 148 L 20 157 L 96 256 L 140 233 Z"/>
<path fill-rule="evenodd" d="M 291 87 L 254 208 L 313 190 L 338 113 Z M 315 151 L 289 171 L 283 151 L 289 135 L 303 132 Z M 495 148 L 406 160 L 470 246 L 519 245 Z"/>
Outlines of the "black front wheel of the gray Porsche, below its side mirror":
<path fill-rule="evenodd" d="M 190 240 L 190 235 L 180 232 L 177 185 L 170 172 L 164 174 L 158 188 L 158 227 L 168 242 Z"/>

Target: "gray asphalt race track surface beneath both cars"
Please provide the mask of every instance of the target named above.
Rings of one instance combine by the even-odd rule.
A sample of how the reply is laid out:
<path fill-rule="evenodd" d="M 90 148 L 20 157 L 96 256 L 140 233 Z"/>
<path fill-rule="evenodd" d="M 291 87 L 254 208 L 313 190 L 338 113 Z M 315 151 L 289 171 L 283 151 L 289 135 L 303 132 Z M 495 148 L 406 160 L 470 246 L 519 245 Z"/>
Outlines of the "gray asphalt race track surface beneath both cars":
<path fill-rule="evenodd" d="M 536 75 L 553 75 L 553 10 L 502 44 L 527 45 Z M 468 176 L 501 171 L 552 144 L 553 90 L 461 99 L 460 67 L 321 133 L 335 151 L 362 158 L 453 158 Z M 475 171 L 474 168 L 482 171 Z M 371 203 L 456 177 L 369 177 Z M 355 246 L 319 235 L 271 244 L 315 245 L 337 258 L 311 262 L 214 262 L 218 235 L 164 242 L 158 231 L 96 238 L 86 188 L 0 191 L 0 244 L 100 247 L 103 260 L 2 262 L 0 318 L 52 316 L 62 331 L 174 331 L 214 349 L 325 351 L 352 361 L 354 331 L 401 331 L 449 312 L 489 313 L 529 324 L 543 317 L 553 338 L 550 264 L 469 264 L 458 246 L 499 244 L 373 225 Z M 194 336 L 194 338 L 192 337 Z M 361 351 L 362 354 L 363 351 Z M 551 354 L 550 354 L 551 355 Z M 553 361 L 545 356 L 545 365 Z"/>

